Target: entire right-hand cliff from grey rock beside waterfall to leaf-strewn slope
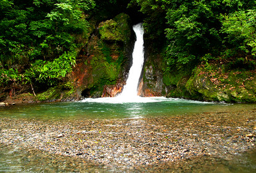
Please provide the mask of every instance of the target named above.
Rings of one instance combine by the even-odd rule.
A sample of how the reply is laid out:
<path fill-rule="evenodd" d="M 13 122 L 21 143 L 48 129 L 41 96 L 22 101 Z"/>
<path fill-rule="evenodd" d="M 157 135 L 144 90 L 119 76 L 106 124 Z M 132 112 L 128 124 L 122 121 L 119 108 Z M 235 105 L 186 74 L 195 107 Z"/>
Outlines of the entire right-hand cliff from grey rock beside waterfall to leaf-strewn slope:
<path fill-rule="evenodd" d="M 256 71 L 201 64 L 193 71 L 167 73 L 160 53 L 146 54 L 141 96 L 167 96 L 217 102 L 256 102 Z"/>

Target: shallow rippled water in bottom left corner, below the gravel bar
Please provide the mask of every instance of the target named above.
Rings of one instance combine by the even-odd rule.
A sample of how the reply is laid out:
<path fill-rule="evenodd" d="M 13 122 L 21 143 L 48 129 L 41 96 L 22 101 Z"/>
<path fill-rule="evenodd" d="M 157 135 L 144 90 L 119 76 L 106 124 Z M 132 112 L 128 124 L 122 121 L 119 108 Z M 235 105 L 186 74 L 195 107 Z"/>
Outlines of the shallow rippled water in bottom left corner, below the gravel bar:
<path fill-rule="evenodd" d="M 79 158 L 0 144 L 0 172 L 103 172 L 103 169 Z"/>

